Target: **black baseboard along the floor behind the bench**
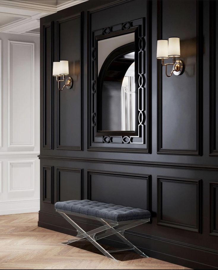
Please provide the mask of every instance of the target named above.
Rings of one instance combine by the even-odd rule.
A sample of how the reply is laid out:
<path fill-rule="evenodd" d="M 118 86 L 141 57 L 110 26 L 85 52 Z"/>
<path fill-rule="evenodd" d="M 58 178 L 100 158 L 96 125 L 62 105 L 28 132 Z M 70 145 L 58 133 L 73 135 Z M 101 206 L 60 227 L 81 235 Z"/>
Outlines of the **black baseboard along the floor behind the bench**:
<path fill-rule="evenodd" d="M 53 218 L 52 218 L 53 216 Z M 50 224 L 49 221 L 53 220 Z M 86 226 L 95 226 L 93 223 L 82 221 Z M 76 235 L 76 230 L 70 228 L 70 224 L 66 224 L 65 220 L 56 214 L 45 213 L 39 211 L 38 226 L 49 230 L 54 230 L 68 235 Z M 160 240 L 158 237 L 149 235 L 136 235 L 128 232 L 128 238 L 131 242 L 137 243 L 136 246 L 140 248 L 149 257 L 174 263 L 177 265 L 189 267 L 192 269 L 217 269 L 218 255 L 214 250 L 198 249 L 197 246 L 185 246 L 184 244 L 173 243 L 171 241 Z M 121 247 L 123 244 L 111 237 L 100 241 L 114 247 Z M 163 253 L 161 251 L 165 251 Z"/>

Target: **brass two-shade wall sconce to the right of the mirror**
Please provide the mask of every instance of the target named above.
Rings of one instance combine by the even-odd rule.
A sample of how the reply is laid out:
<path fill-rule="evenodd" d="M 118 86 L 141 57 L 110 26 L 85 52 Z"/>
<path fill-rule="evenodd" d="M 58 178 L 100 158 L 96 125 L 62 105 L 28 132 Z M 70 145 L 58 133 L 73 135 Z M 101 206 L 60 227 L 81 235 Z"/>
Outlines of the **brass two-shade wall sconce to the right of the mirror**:
<path fill-rule="evenodd" d="M 169 40 L 161 39 L 157 40 L 157 59 L 161 59 L 161 65 L 166 66 L 166 76 L 170 77 L 174 75 L 182 75 L 184 71 L 184 63 L 182 60 L 176 60 L 176 57 L 180 56 L 180 42 L 179 38 L 171 37 Z M 173 63 L 164 64 L 164 59 L 173 57 Z M 173 69 L 170 75 L 167 75 L 167 66 L 173 65 Z"/>

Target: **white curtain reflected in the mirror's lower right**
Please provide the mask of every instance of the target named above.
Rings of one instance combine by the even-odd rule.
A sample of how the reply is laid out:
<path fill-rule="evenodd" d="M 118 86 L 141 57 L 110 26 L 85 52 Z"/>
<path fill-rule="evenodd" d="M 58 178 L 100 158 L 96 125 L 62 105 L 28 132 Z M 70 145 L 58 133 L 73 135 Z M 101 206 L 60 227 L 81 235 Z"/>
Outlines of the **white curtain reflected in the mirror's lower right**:
<path fill-rule="evenodd" d="M 121 89 L 121 130 L 135 130 L 135 77 L 125 76 Z"/>

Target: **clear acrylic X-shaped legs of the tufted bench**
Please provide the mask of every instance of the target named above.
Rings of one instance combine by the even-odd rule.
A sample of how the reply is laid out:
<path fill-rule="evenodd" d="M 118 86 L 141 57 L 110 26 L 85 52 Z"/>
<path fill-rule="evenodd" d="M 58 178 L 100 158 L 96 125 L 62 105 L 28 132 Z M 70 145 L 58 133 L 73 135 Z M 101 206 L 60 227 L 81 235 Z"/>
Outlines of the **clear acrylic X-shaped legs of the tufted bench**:
<path fill-rule="evenodd" d="M 91 230 L 89 232 L 85 232 L 75 221 L 73 221 L 68 216 L 69 212 L 65 212 L 62 210 L 58 211 L 57 209 L 56 209 L 56 212 L 58 212 L 61 216 L 63 216 L 63 218 L 66 219 L 77 230 L 77 236 L 68 240 L 67 242 L 63 242 L 62 244 L 68 245 L 68 244 L 71 244 L 73 242 L 76 242 L 85 238 L 86 240 L 90 241 L 98 250 L 100 250 L 106 257 L 116 262 L 117 260 L 111 255 L 111 253 L 124 251 L 124 250 L 134 250 L 139 255 L 148 258 L 148 256 L 145 255 L 144 252 L 142 252 L 130 241 L 128 241 L 123 235 L 123 233 L 127 229 L 149 222 L 150 219 L 117 222 L 117 221 L 108 221 L 105 219 L 92 217 L 93 219 L 102 221 L 104 225 L 102 225 L 101 227 L 98 227 L 97 229 Z M 81 214 L 75 214 L 75 213 L 73 213 L 73 215 L 80 216 L 80 217 L 82 216 Z M 106 238 L 110 235 L 116 235 L 120 240 L 122 240 L 123 243 L 127 244 L 129 247 L 123 248 L 123 249 L 112 249 L 112 250 L 104 249 L 97 241 L 102 238 Z"/>

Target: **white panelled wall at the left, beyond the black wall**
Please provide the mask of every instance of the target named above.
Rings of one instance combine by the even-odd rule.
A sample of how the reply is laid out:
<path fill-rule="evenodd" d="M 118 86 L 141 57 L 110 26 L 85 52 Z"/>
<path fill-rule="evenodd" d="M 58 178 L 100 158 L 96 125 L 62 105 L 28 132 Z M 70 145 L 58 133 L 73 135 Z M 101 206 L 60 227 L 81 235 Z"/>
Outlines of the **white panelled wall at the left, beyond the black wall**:
<path fill-rule="evenodd" d="M 39 37 L 0 33 L 0 215 L 39 211 Z"/>

